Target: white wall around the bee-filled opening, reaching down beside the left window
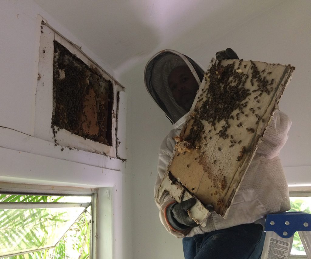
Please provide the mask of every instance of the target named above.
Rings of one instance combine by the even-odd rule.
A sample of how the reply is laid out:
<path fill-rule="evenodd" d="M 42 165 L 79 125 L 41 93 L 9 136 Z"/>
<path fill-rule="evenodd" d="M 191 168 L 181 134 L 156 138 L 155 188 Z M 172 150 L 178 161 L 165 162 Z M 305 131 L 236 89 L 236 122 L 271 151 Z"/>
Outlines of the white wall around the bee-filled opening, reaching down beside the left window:
<path fill-rule="evenodd" d="M 130 202 L 130 195 L 126 189 L 123 191 L 126 163 L 83 150 L 54 146 L 54 143 L 34 137 L 40 36 L 37 14 L 61 35 L 82 46 L 87 56 L 114 76 L 113 71 L 104 65 L 104 60 L 33 1 L 1 1 L 0 181 L 112 187 L 113 254 L 114 258 L 123 258 L 123 244 L 131 247 L 131 240 L 123 241 L 127 233 L 131 234 L 131 224 L 123 228 L 123 210 Z"/>

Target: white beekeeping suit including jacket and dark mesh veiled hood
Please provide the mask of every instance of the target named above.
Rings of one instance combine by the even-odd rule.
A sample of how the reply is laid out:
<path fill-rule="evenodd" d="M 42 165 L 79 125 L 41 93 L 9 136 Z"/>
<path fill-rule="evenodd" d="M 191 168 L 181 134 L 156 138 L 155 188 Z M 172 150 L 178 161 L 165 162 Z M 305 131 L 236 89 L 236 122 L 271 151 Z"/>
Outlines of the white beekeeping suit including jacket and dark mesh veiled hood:
<path fill-rule="evenodd" d="M 174 129 L 169 132 L 160 146 L 155 195 L 173 155 L 175 146 L 173 137 L 180 133 L 187 118 L 186 111 L 175 102 L 167 84 L 167 77 L 171 70 L 184 65 L 190 68 L 200 84 L 204 75 L 203 70 L 192 59 L 176 51 L 165 50 L 157 53 L 147 63 L 145 69 L 145 84 L 148 92 L 174 123 Z M 232 201 L 227 219 L 212 212 L 207 218 L 206 227 L 200 225 L 193 227 L 187 237 L 240 224 L 264 224 L 267 214 L 290 209 L 288 187 L 278 157 L 288 138 L 287 132 L 290 125 L 291 121 L 285 113 L 279 110 L 274 112 L 239 191 Z M 185 236 L 183 232 L 174 229 L 166 219 L 166 208 L 172 202 L 175 202 L 174 199 L 167 194 L 156 204 L 160 210 L 160 220 L 169 233 L 183 238 Z"/>

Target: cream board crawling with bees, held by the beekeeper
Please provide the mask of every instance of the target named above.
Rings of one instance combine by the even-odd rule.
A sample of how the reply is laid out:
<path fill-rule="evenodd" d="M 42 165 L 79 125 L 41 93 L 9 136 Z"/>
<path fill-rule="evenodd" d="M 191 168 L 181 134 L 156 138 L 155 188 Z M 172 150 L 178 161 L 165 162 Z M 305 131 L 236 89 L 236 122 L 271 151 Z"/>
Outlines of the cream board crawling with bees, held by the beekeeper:
<path fill-rule="evenodd" d="M 177 144 L 166 172 L 172 186 L 182 186 L 184 192 L 203 205 L 212 204 L 226 218 L 294 69 L 243 60 L 214 63 L 181 134 L 175 137 Z"/>

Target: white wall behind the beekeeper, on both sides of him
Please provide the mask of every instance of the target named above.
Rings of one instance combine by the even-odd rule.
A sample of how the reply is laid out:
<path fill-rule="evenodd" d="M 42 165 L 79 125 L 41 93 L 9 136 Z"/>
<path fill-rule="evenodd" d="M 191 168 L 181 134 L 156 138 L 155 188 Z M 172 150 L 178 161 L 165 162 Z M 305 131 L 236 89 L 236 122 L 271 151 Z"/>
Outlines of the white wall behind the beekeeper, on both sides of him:
<path fill-rule="evenodd" d="M 173 12 L 173 10 L 172 10 Z M 176 49 L 207 67 L 216 51 L 231 47 L 244 60 L 258 60 L 296 67 L 292 82 L 285 90 L 280 109 L 293 121 L 290 137 L 280 157 L 286 172 L 292 176 L 300 171 L 309 181 L 311 168 L 311 4 L 310 1 L 284 1 L 256 17 L 242 22 L 217 38 L 209 38 L 197 29 L 185 31 L 163 49 Z M 226 17 L 218 16 L 218 19 Z M 223 21 L 223 20 L 222 20 Z M 199 36 L 198 36 L 199 35 Z M 202 36 L 200 36 L 202 35 Z M 201 41 L 198 43 L 198 40 Z M 195 49 L 191 48 L 194 42 Z M 130 91 L 128 103 L 128 147 L 133 174 L 133 258 L 183 258 L 181 240 L 168 234 L 158 218 L 153 201 L 157 152 L 161 141 L 171 129 L 169 121 L 147 94 L 143 71 L 150 57 L 123 73 L 121 83 Z M 302 168 L 302 166 L 306 166 Z M 299 169 L 299 170 L 298 170 Z M 306 173 L 309 172 L 309 173 Z M 307 178 L 306 178 L 307 177 Z M 295 177 L 290 178 L 291 181 Z"/>

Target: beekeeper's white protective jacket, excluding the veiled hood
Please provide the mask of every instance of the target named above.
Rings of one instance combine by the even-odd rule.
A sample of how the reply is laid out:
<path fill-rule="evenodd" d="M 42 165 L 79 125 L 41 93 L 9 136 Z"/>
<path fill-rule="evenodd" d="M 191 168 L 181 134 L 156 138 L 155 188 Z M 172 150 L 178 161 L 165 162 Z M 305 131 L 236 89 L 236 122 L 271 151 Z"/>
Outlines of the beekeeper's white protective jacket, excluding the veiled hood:
<path fill-rule="evenodd" d="M 174 124 L 174 129 L 169 132 L 160 146 L 155 195 L 173 154 L 175 146 L 173 137 L 180 133 L 186 118 L 187 114 Z M 288 116 L 276 110 L 232 201 L 227 219 L 212 212 L 207 218 L 206 227 L 200 225 L 194 227 L 187 237 L 240 224 L 253 222 L 264 224 L 267 214 L 290 209 L 288 187 L 278 157 L 288 138 L 287 132 L 290 125 Z M 160 209 L 160 220 L 169 233 L 183 238 L 184 234 L 171 229 L 165 220 L 165 208 L 173 201 L 174 199 L 168 194 L 157 204 Z"/>

